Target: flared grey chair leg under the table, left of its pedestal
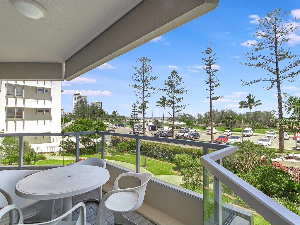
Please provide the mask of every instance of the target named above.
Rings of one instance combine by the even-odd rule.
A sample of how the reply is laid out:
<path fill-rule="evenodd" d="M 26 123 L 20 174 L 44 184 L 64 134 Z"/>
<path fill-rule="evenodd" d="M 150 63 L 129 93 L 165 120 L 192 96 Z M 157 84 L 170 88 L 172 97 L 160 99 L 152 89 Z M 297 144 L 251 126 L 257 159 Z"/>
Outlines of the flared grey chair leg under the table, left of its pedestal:
<path fill-rule="evenodd" d="M 32 217 L 24 219 L 24 223 L 42 223 L 52 220 L 54 204 L 55 199 L 47 200 L 41 211 Z"/>

